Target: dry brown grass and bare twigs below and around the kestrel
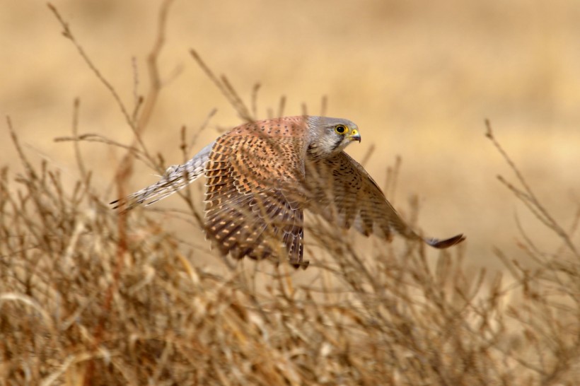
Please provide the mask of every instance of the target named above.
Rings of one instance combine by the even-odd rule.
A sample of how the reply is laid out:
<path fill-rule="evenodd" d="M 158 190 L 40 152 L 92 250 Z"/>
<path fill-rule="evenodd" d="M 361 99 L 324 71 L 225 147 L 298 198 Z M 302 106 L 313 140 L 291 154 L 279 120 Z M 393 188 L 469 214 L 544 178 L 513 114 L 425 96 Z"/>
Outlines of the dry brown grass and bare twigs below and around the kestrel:
<path fill-rule="evenodd" d="M 308 283 L 284 264 L 216 274 L 195 264 L 195 245 L 146 211 L 110 210 L 79 148 L 100 141 L 125 151 L 120 195 L 135 158 L 163 170 L 141 140 L 161 90 L 163 28 L 149 57 L 153 86 L 129 109 L 60 20 L 134 142 L 79 134 L 76 103 L 68 140 L 80 177 L 71 187 L 47 161 L 30 160 L 16 124 L 6 122 L 23 172 L 5 167 L 0 175 L 0 385 L 577 384 L 580 254 L 572 235 L 580 208 L 568 227 L 552 218 L 490 124 L 490 146 L 516 176 L 500 182 L 559 239 L 555 250 L 522 229 L 518 256 L 497 249 L 503 269 L 474 272 L 463 246 L 436 262 L 414 243 L 370 255 L 312 221 L 308 242 L 325 246 L 325 257 L 308 257 L 318 261 Z M 254 103 L 245 107 L 226 78 L 194 57 L 240 117 L 251 117 Z M 197 224 L 199 204 L 188 192 L 182 198 L 189 211 L 168 217 Z"/>

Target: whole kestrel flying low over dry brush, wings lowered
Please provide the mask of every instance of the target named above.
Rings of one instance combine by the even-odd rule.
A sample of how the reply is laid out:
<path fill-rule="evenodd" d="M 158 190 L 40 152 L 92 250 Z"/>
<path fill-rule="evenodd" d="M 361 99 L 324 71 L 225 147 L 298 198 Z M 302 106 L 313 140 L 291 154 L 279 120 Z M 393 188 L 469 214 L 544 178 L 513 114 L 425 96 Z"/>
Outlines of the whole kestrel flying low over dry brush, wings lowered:
<path fill-rule="evenodd" d="M 393 233 L 436 248 L 463 241 L 422 238 L 402 221 L 346 148 L 361 141 L 356 124 L 330 117 L 282 117 L 242 124 L 175 165 L 155 184 L 113 201 L 129 210 L 153 204 L 207 178 L 204 230 L 224 255 L 241 259 L 287 257 L 303 262 L 303 210 L 343 228 L 390 240 Z"/>

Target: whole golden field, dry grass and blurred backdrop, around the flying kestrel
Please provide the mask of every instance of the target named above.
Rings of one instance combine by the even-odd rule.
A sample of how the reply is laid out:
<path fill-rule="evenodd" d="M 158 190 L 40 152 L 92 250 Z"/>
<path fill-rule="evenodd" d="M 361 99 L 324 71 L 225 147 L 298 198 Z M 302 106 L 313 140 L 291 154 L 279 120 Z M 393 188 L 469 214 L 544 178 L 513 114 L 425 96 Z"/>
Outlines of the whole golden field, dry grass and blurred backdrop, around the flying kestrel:
<path fill-rule="evenodd" d="M 0 107 L 21 153 L 4 123 L 0 385 L 580 378 L 576 1 L 52 4 L 71 35 L 47 4 L 1 1 Z M 147 58 L 160 36 L 156 91 Z M 191 49 L 256 118 L 280 115 L 283 98 L 282 115 L 352 119 L 362 141 L 348 153 L 400 213 L 467 241 L 438 252 L 331 226 L 314 235 L 307 216 L 307 271 L 231 268 L 193 216 L 202 182 L 193 206 L 175 195 L 117 216 L 106 204 L 118 189 L 149 185 L 243 122 Z M 148 161 L 55 141 L 76 128 L 140 146 L 127 120 Z"/>

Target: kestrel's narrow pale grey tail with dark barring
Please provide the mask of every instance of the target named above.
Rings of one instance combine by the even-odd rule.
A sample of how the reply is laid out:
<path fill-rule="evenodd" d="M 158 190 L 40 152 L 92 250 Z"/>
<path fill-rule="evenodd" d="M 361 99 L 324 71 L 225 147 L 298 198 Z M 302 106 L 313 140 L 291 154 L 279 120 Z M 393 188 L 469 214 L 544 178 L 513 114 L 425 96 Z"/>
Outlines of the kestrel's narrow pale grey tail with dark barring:
<path fill-rule="evenodd" d="M 163 174 L 163 177 L 161 177 L 161 180 L 153 185 L 149 185 L 139 190 L 139 192 L 129 194 L 129 196 L 123 199 L 110 202 L 110 205 L 115 205 L 112 209 L 119 208 L 122 211 L 129 211 L 141 204 L 148 206 L 190 185 L 190 183 L 204 174 L 205 164 L 209 159 L 209 153 L 211 153 L 213 146 L 214 144 L 211 143 L 204 147 L 202 151 L 183 165 L 170 166 Z"/>

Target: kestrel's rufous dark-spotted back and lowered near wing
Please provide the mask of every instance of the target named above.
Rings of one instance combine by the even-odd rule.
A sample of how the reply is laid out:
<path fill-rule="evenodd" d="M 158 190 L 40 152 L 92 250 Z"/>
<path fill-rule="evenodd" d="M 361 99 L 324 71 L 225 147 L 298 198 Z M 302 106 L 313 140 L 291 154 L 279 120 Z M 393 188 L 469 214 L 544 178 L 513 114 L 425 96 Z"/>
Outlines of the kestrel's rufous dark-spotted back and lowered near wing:
<path fill-rule="evenodd" d="M 298 130 L 298 122 L 279 119 L 216 140 L 206 165 L 205 230 L 224 255 L 289 258 L 294 267 L 308 266 L 302 261 L 302 204 L 294 193 L 306 156 Z"/>

